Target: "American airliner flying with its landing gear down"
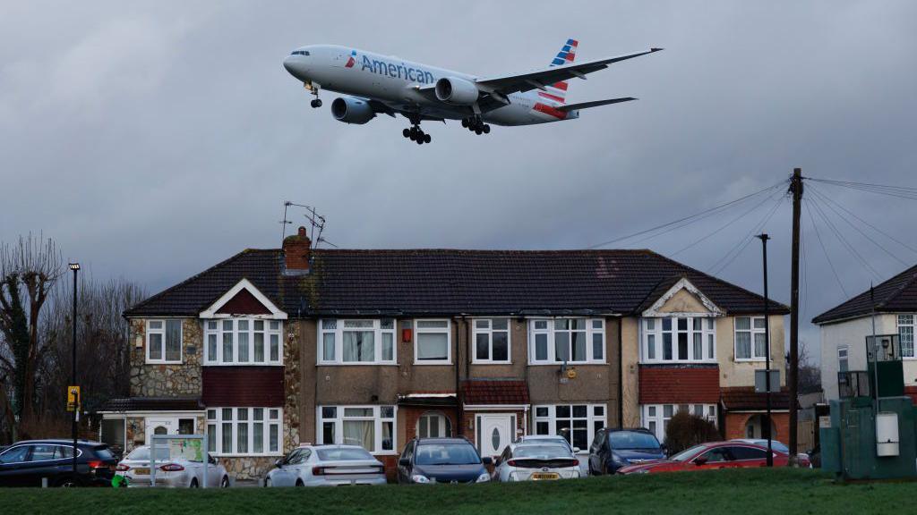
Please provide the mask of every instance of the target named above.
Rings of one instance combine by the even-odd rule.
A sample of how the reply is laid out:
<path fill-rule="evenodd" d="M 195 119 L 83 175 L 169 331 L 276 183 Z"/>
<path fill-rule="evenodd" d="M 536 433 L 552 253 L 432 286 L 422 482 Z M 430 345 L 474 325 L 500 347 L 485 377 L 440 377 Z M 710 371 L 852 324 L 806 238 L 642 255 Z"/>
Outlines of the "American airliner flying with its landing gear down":
<path fill-rule="evenodd" d="M 321 107 L 321 90 L 343 93 L 331 103 L 331 115 L 348 124 L 365 124 L 376 115 L 403 115 L 411 127 L 403 137 L 418 145 L 432 140 L 420 128 L 422 121 L 461 120 L 477 135 L 496 126 L 527 126 L 572 120 L 580 110 L 636 100 L 609 98 L 567 104 L 570 79 L 604 70 L 608 65 L 661 49 L 652 48 L 618 57 L 575 63 L 579 42 L 568 39 L 547 68 L 512 75 L 478 77 L 444 70 L 395 56 L 341 47 L 309 45 L 293 50 L 283 67 L 315 95 L 312 107 Z"/>

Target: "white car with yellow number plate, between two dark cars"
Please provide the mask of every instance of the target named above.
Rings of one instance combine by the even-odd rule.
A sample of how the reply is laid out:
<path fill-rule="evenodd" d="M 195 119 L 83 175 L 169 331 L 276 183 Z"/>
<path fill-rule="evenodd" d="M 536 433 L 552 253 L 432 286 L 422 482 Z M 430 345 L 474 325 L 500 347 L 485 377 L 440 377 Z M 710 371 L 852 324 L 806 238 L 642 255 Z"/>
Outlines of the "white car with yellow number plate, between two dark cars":
<path fill-rule="evenodd" d="M 580 460 L 569 445 L 550 440 L 509 444 L 494 464 L 497 481 L 541 481 L 580 477 Z"/>

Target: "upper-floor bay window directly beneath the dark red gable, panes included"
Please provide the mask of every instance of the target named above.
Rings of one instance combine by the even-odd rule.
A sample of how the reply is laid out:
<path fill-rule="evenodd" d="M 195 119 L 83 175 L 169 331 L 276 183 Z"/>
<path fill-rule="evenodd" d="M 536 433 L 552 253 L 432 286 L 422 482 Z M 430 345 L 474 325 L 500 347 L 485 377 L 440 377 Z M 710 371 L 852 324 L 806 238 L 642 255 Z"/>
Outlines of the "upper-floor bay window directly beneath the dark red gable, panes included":
<path fill-rule="evenodd" d="M 204 365 L 282 365 L 282 329 L 279 320 L 207 320 Z"/>

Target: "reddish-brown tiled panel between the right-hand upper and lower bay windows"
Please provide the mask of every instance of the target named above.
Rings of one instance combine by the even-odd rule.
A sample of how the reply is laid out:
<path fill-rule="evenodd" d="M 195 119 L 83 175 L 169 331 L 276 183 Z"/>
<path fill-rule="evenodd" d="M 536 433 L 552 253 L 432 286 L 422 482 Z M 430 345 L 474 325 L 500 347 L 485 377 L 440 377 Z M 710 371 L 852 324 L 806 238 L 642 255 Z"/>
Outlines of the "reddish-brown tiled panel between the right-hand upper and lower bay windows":
<path fill-rule="evenodd" d="M 641 365 L 640 404 L 716 404 L 720 368 L 716 365 Z"/>

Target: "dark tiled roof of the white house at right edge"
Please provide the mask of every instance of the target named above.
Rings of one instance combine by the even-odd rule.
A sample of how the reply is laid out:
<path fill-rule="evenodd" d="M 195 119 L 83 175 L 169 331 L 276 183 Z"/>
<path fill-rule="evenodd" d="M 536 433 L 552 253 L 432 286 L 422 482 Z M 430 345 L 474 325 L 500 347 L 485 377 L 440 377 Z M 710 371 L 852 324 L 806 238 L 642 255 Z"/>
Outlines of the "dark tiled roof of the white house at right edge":
<path fill-rule="evenodd" d="M 873 297 L 874 296 L 874 297 Z M 917 311 L 917 266 L 866 290 L 849 301 L 835 306 L 812 319 L 812 323 L 829 323 L 867 315 L 875 303 L 877 312 Z"/>

